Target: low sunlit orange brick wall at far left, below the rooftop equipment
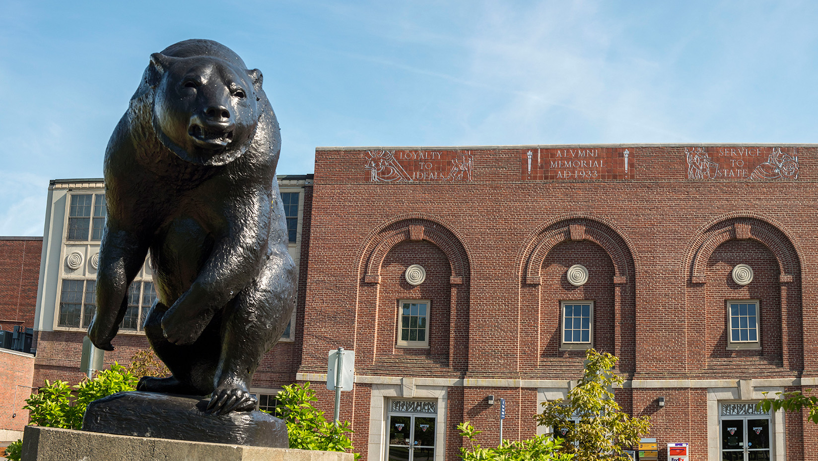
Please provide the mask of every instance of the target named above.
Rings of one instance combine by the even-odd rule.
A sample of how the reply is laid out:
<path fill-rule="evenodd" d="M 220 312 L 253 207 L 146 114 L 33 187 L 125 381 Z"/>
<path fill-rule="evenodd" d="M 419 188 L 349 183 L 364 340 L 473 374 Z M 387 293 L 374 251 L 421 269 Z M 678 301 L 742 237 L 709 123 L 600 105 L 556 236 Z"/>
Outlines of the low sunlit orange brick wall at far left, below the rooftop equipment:
<path fill-rule="evenodd" d="M 31 395 L 34 378 L 34 356 L 0 349 L 0 429 L 22 431 L 29 423 L 29 410 L 23 410 Z"/>

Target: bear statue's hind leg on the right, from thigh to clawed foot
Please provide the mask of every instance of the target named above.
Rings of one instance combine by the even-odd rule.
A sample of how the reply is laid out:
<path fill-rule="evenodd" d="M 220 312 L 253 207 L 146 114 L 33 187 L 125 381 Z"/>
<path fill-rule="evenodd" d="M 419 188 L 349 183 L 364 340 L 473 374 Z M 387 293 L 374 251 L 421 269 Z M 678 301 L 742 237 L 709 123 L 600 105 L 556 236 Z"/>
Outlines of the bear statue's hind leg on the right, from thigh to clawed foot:
<path fill-rule="evenodd" d="M 273 253 L 261 273 L 224 312 L 222 356 L 208 410 L 253 410 L 249 381 L 263 355 L 287 327 L 295 307 L 295 267 L 289 254 Z"/>

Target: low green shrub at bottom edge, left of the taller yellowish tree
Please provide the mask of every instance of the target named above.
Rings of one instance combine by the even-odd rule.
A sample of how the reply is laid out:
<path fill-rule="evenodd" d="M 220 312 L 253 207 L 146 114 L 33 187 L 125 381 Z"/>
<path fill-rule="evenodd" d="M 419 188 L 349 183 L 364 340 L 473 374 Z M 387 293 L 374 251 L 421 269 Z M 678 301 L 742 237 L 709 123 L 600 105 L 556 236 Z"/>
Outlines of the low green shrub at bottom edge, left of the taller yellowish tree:
<path fill-rule="evenodd" d="M 461 446 L 463 461 L 571 461 L 573 454 L 560 453 L 560 440 L 551 436 L 535 436 L 527 441 L 503 441 L 497 448 L 482 448 L 474 443 L 478 431 L 468 421 L 457 425 L 461 436 L 469 439 L 469 447 Z"/>

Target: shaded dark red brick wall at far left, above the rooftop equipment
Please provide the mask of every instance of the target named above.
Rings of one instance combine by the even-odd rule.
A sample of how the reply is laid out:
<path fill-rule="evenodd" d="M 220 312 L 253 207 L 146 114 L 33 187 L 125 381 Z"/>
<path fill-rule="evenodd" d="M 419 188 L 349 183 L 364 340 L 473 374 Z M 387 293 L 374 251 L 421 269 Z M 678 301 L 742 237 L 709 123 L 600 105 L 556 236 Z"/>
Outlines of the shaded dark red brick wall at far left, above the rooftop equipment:
<path fill-rule="evenodd" d="M 0 237 L 0 326 L 34 326 L 42 237 Z"/>

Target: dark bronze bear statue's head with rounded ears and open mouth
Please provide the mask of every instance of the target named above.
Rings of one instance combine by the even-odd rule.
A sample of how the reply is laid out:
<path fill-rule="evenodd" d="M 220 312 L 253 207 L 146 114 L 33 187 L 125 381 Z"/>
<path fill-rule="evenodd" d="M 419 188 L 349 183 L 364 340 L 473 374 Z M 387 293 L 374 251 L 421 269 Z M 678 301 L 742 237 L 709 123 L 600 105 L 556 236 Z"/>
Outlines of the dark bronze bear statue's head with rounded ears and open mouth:
<path fill-rule="evenodd" d="M 240 69 L 213 56 L 154 53 L 148 71 L 155 86 L 153 126 L 174 154 L 191 163 L 223 165 L 245 153 L 260 116 L 258 69 Z"/>

